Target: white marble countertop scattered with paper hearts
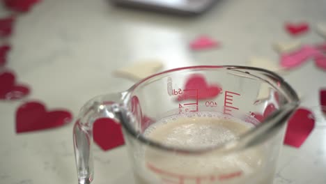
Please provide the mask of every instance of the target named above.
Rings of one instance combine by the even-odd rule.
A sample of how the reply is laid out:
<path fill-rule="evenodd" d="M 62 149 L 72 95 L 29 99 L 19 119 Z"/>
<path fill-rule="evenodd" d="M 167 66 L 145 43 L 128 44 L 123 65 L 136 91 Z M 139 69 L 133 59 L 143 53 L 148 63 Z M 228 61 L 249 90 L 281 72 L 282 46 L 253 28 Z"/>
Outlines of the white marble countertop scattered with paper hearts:
<path fill-rule="evenodd" d="M 76 116 L 94 95 L 122 91 L 132 82 L 111 72 L 141 59 L 160 59 L 164 70 L 194 65 L 245 65 L 249 56 L 274 62 L 276 41 L 321 43 L 313 31 L 326 21 L 326 1 L 219 1 L 199 17 L 178 17 L 125 10 L 107 0 L 43 0 L 15 24 L 7 68 L 31 86 L 24 100 L 65 107 Z M 0 15 L 6 15 L 4 8 Z M 312 30 L 293 38 L 285 21 L 304 20 Z M 188 43 L 207 34 L 221 49 L 190 52 Z M 176 62 L 178 61 L 178 62 Z M 302 106 L 318 105 L 326 72 L 312 62 L 284 76 L 302 94 Z M 23 100 L 0 102 L 0 183 L 77 183 L 72 123 L 63 128 L 15 133 L 15 110 Z M 95 145 L 95 144 L 94 144 Z M 132 183 L 125 146 L 95 149 L 95 183 Z M 284 146 L 275 184 L 326 183 L 326 126 L 318 125 L 301 148 Z"/>

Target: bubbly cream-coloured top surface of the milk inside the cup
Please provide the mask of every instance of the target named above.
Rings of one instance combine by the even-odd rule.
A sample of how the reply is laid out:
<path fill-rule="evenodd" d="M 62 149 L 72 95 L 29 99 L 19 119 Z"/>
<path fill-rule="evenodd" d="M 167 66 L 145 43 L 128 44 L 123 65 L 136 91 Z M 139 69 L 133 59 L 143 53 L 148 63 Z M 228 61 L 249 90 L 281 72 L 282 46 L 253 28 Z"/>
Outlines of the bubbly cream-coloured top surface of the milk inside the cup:
<path fill-rule="evenodd" d="M 167 146 L 206 148 L 224 144 L 253 126 L 217 112 L 177 114 L 150 125 L 144 136 Z"/>

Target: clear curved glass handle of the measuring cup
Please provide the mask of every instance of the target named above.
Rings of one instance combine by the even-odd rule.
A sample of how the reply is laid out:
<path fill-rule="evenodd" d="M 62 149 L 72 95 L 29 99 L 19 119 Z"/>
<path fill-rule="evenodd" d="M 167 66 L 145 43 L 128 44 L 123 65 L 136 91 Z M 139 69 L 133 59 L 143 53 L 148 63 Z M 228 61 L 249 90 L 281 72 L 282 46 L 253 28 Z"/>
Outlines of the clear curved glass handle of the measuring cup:
<path fill-rule="evenodd" d="M 121 122 L 121 107 L 127 93 L 100 95 L 86 102 L 81 108 L 79 116 L 73 128 L 75 146 L 75 159 L 79 184 L 87 184 L 93 181 L 93 153 L 91 144 L 93 141 L 93 123 L 98 118 L 114 118 Z M 119 115 L 120 114 L 120 115 Z"/>

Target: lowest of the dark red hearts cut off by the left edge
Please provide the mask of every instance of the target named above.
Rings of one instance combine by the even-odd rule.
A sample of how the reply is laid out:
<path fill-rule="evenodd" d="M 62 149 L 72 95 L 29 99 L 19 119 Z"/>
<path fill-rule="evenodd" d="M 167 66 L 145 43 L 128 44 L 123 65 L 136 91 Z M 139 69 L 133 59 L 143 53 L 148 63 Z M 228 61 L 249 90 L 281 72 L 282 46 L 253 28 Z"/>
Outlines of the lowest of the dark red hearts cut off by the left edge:
<path fill-rule="evenodd" d="M 0 99 L 16 100 L 29 94 L 29 88 L 15 84 L 15 75 L 12 72 L 0 74 Z"/>

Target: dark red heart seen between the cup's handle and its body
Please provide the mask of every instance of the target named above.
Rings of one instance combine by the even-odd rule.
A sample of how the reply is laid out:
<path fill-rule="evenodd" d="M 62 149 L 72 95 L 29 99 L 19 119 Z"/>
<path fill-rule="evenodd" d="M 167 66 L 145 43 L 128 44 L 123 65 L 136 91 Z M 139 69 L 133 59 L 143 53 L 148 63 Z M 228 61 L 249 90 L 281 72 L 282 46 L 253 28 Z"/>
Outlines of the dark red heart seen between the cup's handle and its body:
<path fill-rule="evenodd" d="M 110 118 L 99 118 L 94 122 L 93 139 L 104 151 L 125 144 L 121 125 Z"/>

